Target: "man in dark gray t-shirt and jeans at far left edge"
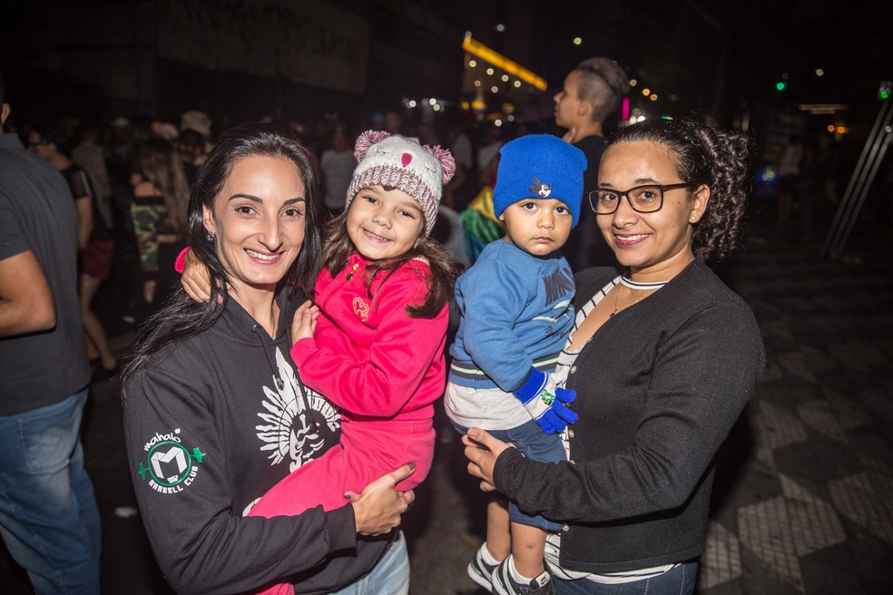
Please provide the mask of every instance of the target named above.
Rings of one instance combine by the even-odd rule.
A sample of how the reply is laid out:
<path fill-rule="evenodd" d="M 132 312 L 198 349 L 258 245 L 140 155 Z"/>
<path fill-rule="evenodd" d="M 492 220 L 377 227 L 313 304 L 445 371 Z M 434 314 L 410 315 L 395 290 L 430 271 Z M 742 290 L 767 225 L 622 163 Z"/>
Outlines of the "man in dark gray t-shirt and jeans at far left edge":
<path fill-rule="evenodd" d="M 36 592 L 97 594 L 78 219 L 62 174 L 4 132 L 4 100 L 0 73 L 0 535 Z"/>

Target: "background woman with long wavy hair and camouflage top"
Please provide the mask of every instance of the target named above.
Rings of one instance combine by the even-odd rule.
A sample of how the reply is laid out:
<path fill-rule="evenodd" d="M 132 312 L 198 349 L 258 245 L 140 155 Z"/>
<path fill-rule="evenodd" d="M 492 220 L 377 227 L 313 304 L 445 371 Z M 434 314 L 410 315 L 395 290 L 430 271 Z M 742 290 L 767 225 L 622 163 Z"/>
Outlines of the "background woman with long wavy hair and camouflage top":
<path fill-rule="evenodd" d="M 185 247 L 189 182 L 173 145 L 161 137 L 140 143 L 137 160 L 139 172 L 132 174 L 131 220 L 140 253 L 136 314 L 142 322 L 178 285 L 173 262 Z"/>

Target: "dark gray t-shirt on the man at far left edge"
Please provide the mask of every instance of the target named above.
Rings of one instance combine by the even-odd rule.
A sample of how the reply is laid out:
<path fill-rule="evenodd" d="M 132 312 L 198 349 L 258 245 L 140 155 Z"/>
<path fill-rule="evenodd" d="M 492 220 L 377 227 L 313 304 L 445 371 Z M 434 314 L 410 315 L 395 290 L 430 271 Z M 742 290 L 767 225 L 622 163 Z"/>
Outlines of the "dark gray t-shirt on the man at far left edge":
<path fill-rule="evenodd" d="M 54 405 L 83 389 L 90 366 L 77 298 L 77 212 L 47 161 L 0 134 L 0 260 L 32 250 L 53 290 L 53 330 L 0 337 L 0 415 Z"/>

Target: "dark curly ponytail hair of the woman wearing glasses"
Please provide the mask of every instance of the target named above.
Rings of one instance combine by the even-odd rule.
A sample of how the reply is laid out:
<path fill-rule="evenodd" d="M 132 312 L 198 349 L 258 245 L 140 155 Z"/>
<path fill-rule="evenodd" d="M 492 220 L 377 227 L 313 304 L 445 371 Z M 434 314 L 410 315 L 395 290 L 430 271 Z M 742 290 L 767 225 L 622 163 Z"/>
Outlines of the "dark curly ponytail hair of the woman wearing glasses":
<path fill-rule="evenodd" d="M 741 243 L 741 222 L 751 193 L 751 137 L 711 128 L 694 117 L 654 118 L 614 134 L 603 159 L 613 145 L 637 141 L 663 145 L 670 150 L 673 169 L 682 181 L 692 188 L 702 184 L 710 188 L 707 210 L 692 233 L 692 252 L 703 260 L 729 258 Z"/>

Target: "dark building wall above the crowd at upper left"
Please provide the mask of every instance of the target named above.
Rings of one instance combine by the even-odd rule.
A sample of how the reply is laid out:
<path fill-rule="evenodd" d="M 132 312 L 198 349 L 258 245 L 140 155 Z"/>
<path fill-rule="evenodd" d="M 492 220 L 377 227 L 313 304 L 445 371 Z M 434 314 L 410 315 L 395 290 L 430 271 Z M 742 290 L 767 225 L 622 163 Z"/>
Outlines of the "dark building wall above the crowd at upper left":
<path fill-rule="evenodd" d="M 332 111 L 363 121 L 403 96 L 457 98 L 459 21 L 468 7 L 424 0 L 25 3 L 3 25 L 2 67 L 11 83 L 23 79 L 21 109 L 46 118 L 145 113 L 172 121 L 202 109 L 234 121 Z M 76 90 L 76 99 L 59 89 Z"/>

